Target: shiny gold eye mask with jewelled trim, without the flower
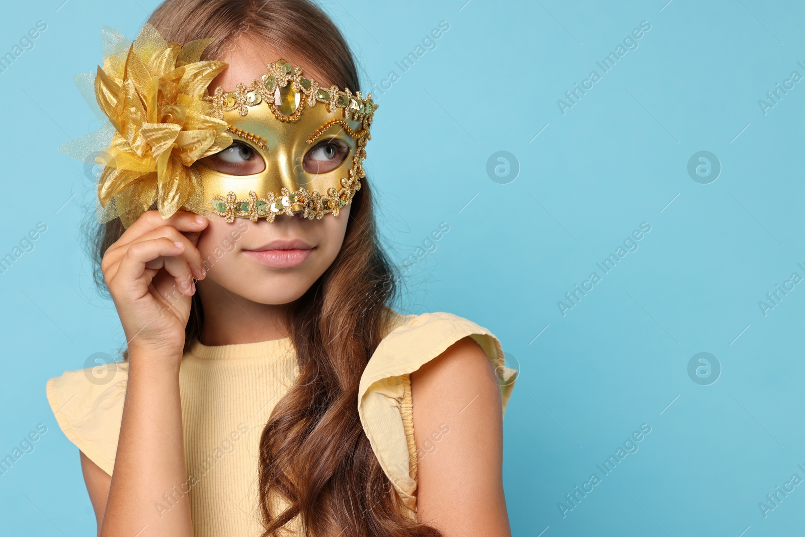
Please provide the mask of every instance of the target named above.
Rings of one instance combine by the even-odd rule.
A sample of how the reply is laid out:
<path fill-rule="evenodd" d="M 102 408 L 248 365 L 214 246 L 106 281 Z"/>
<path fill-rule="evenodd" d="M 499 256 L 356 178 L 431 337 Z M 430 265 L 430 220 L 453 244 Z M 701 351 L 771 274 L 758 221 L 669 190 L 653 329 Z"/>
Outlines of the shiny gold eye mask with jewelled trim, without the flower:
<path fill-rule="evenodd" d="M 232 222 L 303 211 L 321 218 L 352 201 L 365 176 L 371 94 L 322 88 L 280 59 L 246 88 L 216 88 L 211 115 L 227 123 L 233 144 L 200 161 L 210 209 Z"/>

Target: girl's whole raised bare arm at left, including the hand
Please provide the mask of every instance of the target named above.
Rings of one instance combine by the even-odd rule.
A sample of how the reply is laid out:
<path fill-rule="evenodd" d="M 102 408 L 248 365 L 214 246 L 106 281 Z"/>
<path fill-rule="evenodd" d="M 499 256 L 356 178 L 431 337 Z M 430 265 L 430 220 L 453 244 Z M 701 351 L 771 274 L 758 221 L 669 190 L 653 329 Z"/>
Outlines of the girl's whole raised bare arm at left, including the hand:
<path fill-rule="evenodd" d="M 101 537 L 193 535 L 179 369 L 192 279 L 203 278 L 204 267 L 196 238 L 184 233 L 206 225 L 184 211 L 167 220 L 148 211 L 109 246 L 101 263 L 129 342 L 112 477 L 81 455 Z"/>

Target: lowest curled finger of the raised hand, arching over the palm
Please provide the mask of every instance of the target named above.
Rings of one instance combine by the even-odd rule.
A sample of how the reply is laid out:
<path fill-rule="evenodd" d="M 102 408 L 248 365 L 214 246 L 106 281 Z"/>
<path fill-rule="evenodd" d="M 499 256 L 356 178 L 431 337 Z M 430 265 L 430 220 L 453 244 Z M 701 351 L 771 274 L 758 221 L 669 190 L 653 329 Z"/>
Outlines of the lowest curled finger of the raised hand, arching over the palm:
<path fill-rule="evenodd" d="M 168 274 L 177 279 L 177 286 L 183 294 L 192 295 L 190 266 L 184 258 L 180 257 L 184 247 L 184 243 L 178 242 L 177 244 L 167 237 L 134 242 L 120 260 L 118 272 L 114 275 L 114 286 L 122 286 L 124 290 L 136 288 L 144 295 L 147 293 L 147 282 L 143 279 L 143 275 L 147 265 L 155 264 L 157 266 L 151 266 L 151 268 L 164 268 Z M 183 281 L 191 282 L 188 291 L 184 290 L 188 288 L 188 285 L 183 284 Z"/>

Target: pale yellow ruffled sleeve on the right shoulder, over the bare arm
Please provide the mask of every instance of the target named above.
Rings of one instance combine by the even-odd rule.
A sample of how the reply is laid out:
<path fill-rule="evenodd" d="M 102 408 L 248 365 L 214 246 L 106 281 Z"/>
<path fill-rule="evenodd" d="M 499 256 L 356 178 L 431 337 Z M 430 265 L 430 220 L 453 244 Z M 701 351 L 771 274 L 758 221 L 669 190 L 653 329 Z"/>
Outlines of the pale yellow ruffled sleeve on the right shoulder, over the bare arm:
<path fill-rule="evenodd" d="M 369 359 L 358 387 L 358 415 L 375 455 L 411 511 L 416 511 L 411 372 L 470 336 L 495 366 L 505 414 L 517 371 L 506 367 L 500 341 L 488 329 L 447 312 L 398 316 L 396 327 Z"/>

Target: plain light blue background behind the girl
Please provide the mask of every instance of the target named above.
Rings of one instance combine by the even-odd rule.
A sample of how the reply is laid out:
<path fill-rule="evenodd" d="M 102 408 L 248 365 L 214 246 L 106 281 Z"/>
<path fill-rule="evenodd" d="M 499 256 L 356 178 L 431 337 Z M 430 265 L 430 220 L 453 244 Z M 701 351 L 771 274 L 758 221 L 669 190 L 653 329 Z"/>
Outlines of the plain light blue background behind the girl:
<path fill-rule="evenodd" d="M 7 535 L 93 535 L 44 386 L 124 341 L 81 250 L 92 183 L 56 147 L 98 126 L 72 76 L 101 62 L 101 25 L 133 39 L 157 2 L 62 2 L 14 2 L 0 18 L 2 53 L 47 23 L 0 73 L 0 255 L 47 225 L 0 275 L 0 455 L 48 428 L 0 476 Z M 805 283 L 766 316 L 758 301 L 805 277 L 805 81 L 767 114 L 758 100 L 805 76 L 803 3 L 464 2 L 325 7 L 380 104 L 366 167 L 393 257 L 450 226 L 411 269 L 410 312 L 489 328 L 521 372 L 505 420 L 514 535 L 800 535 L 805 485 L 766 518 L 758 502 L 805 477 Z M 436 49 L 402 73 L 394 62 L 442 20 Z M 556 101 L 641 21 L 638 48 L 563 115 Z M 390 89 L 369 87 L 390 70 Z M 496 151 L 515 155 L 516 180 L 487 176 Z M 688 176 L 697 151 L 720 160 L 715 182 Z M 562 316 L 557 301 L 642 222 L 638 250 Z M 722 368 L 710 386 L 687 374 L 704 351 Z M 563 518 L 557 503 L 641 423 L 639 451 Z"/>

